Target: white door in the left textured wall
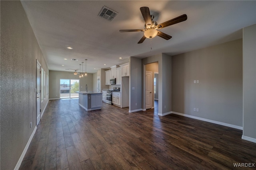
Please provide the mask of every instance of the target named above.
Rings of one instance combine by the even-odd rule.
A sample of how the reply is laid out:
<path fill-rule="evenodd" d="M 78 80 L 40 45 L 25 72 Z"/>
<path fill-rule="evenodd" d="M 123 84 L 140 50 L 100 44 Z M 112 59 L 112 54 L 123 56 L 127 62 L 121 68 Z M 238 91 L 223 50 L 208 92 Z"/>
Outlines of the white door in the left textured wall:
<path fill-rule="evenodd" d="M 41 65 L 36 62 L 36 125 L 38 125 L 40 121 L 40 113 L 41 113 L 41 99 L 40 99 L 40 70 L 41 70 Z"/>

